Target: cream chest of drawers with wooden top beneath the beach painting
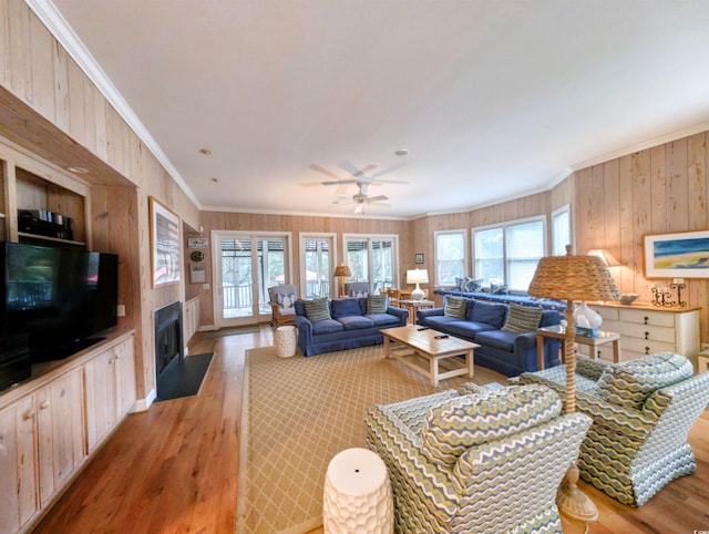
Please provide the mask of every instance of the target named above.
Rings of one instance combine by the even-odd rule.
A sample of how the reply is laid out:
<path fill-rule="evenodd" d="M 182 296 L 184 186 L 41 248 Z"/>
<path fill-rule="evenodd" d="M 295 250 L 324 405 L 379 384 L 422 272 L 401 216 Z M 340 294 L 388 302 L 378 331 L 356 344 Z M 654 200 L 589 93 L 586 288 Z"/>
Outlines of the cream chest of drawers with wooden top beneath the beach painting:
<path fill-rule="evenodd" d="M 602 330 L 620 333 L 620 361 L 656 352 L 677 352 L 689 358 L 697 369 L 699 310 L 701 308 L 660 308 L 651 304 L 589 304 L 603 317 Z M 586 356 L 589 347 L 579 346 Z M 593 350 L 593 349 L 590 349 Z M 613 361 L 610 346 L 600 346 L 597 358 Z"/>

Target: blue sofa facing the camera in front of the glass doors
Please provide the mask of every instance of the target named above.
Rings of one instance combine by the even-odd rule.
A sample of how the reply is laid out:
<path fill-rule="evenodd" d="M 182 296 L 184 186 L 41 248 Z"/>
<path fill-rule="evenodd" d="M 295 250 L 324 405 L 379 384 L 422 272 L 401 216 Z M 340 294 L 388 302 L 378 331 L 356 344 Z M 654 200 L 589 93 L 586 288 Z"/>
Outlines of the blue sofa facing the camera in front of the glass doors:
<path fill-rule="evenodd" d="M 409 312 L 387 307 L 386 314 L 367 314 L 367 297 L 330 300 L 330 319 L 311 321 L 306 316 L 305 300 L 296 300 L 298 347 L 304 356 L 335 350 L 356 349 L 384 342 L 382 328 L 403 327 Z"/>

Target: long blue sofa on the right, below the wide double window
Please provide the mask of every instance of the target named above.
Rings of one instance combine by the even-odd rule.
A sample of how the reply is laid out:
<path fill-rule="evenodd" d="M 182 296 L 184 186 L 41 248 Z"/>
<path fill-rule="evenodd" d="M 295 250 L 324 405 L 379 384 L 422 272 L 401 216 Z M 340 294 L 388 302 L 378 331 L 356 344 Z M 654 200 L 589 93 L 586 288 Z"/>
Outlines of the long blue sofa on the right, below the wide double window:
<path fill-rule="evenodd" d="M 475 349 L 476 366 L 507 377 L 537 370 L 536 330 L 524 333 L 502 330 L 510 305 L 466 298 L 465 319 L 458 319 L 444 315 L 448 298 L 444 298 L 442 308 L 419 310 L 419 325 L 480 345 Z M 558 311 L 544 309 L 538 326 L 558 325 L 559 320 Z M 544 338 L 545 369 L 561 363 L 558 348 L 557 339 Z"/>

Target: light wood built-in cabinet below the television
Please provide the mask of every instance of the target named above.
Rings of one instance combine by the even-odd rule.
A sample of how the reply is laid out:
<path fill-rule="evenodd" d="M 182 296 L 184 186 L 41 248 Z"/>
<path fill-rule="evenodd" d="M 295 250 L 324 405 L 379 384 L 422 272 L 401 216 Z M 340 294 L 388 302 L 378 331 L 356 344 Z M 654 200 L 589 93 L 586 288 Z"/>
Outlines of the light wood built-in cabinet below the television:
<path fill-rule="evenodd" d="M 31 528 L 135 397 L 132 331 L 41 364 L 32 379 L 0 394 L 0 533 Z"/>

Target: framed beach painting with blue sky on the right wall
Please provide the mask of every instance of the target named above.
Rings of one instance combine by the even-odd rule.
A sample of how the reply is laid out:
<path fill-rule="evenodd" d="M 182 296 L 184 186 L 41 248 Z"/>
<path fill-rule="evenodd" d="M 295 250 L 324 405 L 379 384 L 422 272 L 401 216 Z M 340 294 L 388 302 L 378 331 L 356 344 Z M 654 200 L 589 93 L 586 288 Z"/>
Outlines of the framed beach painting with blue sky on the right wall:
<path fill-rule="evenodd" d="M 709 230 L 645 236 L 646 278 L 709 278 Z"/>

